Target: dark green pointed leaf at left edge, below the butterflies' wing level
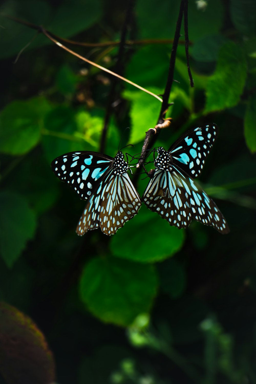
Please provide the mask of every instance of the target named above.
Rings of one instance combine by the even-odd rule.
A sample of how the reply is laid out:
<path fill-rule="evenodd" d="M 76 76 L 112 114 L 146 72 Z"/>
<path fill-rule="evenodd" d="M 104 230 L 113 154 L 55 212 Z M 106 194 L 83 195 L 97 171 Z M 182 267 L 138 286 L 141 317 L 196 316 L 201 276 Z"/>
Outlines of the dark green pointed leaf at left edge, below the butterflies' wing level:
<path fill-rule="evenodd" d="M 26 199 L 13 192 L 1 192 L 0 254 L 9 268 L 34 237 L 35 228 L 35 215 Z"/>

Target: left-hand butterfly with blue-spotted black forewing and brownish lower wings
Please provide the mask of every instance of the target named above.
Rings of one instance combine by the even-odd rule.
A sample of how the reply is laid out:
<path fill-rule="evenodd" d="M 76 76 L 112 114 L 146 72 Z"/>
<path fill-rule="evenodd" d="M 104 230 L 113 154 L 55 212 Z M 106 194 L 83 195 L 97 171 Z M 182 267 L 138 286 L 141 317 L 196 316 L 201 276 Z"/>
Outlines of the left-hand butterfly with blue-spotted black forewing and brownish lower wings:
<path fill-rule="evenodd" d="M 88 201 L 76 228 L 79 236 L 98 227 L 112 235 L 141 206 L 140 196 L 127 174 L 130 166 L 121 151 L 114 158 L 90 151 L 69 152 L 53 160 L 51 168 L 80 199 Z"/>

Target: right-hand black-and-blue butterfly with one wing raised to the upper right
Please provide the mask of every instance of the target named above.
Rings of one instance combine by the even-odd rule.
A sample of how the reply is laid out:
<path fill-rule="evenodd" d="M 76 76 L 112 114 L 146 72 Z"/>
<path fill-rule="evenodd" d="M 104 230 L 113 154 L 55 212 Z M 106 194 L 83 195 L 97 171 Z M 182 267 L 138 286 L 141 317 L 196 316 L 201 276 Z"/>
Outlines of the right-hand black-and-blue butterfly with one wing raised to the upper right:
<path fill-rule="evenodd" d="M 194 218 L 220 233 L 230 232 L 215 202 L 192 179 L 200 175 L 217 135 L 215 124 L 205 125 L 186 132 L 168 151 L 157 149 L 154 175 L 142 200 L 170 225 L 187 228 Z"/>

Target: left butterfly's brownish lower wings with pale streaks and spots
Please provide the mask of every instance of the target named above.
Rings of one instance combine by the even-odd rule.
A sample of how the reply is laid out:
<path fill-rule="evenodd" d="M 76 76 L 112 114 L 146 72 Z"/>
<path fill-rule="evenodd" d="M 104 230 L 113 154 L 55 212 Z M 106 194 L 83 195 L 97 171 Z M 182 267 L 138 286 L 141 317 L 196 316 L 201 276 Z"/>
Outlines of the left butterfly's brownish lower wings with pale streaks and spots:
<path fill-rule="evenodd" d="M 140 196 L 128 174 L 109 172 L 86 205 L 76 233 L 83 236 L 88 230 L 100 227 L 103 233 L 112 235 L 137 214 L 140 206 Z"/>

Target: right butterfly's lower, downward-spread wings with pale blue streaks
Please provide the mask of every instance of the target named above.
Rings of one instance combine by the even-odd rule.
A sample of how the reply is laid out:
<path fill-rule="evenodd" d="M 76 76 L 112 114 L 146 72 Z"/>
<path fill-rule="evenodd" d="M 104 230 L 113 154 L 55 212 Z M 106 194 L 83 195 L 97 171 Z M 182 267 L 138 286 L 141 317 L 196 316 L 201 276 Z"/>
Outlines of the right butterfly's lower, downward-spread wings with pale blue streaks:
<path fill-rule="evenodd" d="M 182 169 L 155 171 L 142 200 L 170 225 L 187 228 L 192 218 L 214 227 L 218 232 L 230 232 L 228 224 L 215 202 Z"/>

